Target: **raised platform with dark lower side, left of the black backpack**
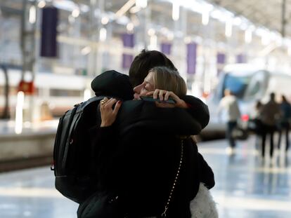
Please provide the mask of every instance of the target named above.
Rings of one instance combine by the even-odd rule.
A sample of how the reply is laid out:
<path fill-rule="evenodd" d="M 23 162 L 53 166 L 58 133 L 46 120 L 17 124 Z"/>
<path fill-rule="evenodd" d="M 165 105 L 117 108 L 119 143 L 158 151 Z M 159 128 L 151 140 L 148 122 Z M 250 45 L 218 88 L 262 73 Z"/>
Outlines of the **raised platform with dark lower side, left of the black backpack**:
<path fill-rule="evenodd" d="M 15 121 L 0 121 L 0 172 L 51 163 L 57 127 L 58 119 L 25 122 L 15 131 Z"/>

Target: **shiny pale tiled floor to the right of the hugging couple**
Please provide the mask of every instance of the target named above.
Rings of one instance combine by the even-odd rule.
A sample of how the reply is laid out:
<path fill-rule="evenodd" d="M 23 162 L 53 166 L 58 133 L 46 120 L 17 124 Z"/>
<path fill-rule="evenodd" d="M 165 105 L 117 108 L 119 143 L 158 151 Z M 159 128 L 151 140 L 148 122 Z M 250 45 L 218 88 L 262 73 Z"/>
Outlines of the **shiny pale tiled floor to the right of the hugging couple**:
<path fill-rule="evenodd" d="M 283 151 L 272 160 L 262 160 L 254 149 L 254 137 L 238 142 L 233 155 L 226 154 L 226 142 L 205 142 L 199 147 L 214 170 L 212 195 L 219 217 L 290 218 L 291 167 Z M 289 152 L 290 153 L 290 152 Z"/>

